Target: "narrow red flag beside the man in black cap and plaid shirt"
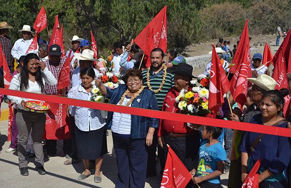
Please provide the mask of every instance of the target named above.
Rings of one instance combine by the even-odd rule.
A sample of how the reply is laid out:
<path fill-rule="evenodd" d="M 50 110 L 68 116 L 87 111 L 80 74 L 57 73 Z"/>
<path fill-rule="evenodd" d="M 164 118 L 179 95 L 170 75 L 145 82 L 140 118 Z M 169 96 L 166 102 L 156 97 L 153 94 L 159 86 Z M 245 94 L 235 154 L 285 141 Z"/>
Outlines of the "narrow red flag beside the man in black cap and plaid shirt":
<path fill-rule="evenodd" d="M 70 56 L 72 53 L 72 49 L 65 60 L 65 63 L 60 71 L 58 78 L 58 90 L 62 90 L 70 85 Z"/>

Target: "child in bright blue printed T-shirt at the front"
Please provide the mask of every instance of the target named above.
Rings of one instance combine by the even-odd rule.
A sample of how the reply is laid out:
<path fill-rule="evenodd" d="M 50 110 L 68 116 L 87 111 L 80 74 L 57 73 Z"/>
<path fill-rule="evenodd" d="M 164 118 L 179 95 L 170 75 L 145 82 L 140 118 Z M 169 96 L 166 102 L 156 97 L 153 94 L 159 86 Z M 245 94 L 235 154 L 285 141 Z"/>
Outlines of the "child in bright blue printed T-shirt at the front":
<path fill-rule="evenodd" d="M 197 170 L 190 173 L 194 184 L 201 188 L 220 188 L 220 175 L 224 171 L 226 151 L 217 140 L 223 128 L 204 126 L 202 130 L 203 141 L 199 148 L 199 164 Z"/>

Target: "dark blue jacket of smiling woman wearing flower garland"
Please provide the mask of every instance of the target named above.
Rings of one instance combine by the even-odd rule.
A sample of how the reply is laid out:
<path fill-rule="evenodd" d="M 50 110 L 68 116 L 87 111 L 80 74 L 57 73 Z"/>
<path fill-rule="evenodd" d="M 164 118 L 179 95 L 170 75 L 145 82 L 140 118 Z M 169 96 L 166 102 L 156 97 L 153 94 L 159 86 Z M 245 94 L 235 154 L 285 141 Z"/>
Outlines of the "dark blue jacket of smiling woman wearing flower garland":
<path fill-rule="evenodd" d="M 116 105 L 120 101 L 121 96 L 127 90 L 127 86 L 125 84 L 121 84 L 114 90 L 111 90 L 109 88 L 106 88 L 106 89 L 107 89 L 106 97 L 110 99 L 109 103 Z M 144 89 L 142 93 L 132 101 L 131 107 L 150 109 L 150 110 L 159 110 L 158 102 L 157 102 L 154 92 L 147 89 Z M 111 128 L 112 117 L 113 117 L 113 112 L 108 111 L 107 124 L 106 124 L 108 128 Z M 146 134 L 148 132 L 149 127 L 159 128 L 159 119 L 138 116 L 138 115 L 131 115 L 130 137 L 132 139 L 146 138 Z"/>

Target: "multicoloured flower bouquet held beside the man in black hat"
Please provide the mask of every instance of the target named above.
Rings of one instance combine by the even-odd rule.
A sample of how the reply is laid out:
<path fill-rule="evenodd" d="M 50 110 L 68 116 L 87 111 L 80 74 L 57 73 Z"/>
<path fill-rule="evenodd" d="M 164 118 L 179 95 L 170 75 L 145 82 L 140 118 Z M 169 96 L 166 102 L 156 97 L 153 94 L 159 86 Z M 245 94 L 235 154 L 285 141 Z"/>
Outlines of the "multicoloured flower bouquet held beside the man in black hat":
<path fill-rule="evenodd" d="M 178 108 L 183 113 L 206 117 L 208 110 L 210 80 L 205 75 L 199 75 L 197 80 L 190 81 L 188 90 L 182 89 L 176 97 Z"/>

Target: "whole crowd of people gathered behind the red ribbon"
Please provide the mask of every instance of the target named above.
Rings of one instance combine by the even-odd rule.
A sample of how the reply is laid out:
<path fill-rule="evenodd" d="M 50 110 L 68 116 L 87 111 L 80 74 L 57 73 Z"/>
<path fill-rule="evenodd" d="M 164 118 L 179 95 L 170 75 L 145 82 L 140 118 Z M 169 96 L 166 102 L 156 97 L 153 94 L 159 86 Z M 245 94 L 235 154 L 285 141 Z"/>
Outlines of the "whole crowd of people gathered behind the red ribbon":
<path fill-rule="evenodd" d="M 110 89 L 99 76 L 105 60 L 94 58 L 88 40 L 73 36 L 72 46 L 65 57 L 62 56 L 59 45 L 49 47 L 44 40 L 38 40 L 36 51 L 26 54 L 35 35 L 34 31 L 30 26 L 24 25 L 19 30 L 22 38 L 12 45 L 8 37 L 11 28 L 6 22 L 0 23 L 0 43 L 13 73 L 9 87 L 11 90 L 62 95 L 87 101 L 92 99 L 93 91 L 98 90 L 110 104 L 182 113 L 176 98 L 181 90 L 188 90 L 191 81 L 196 78 L 192 75 L 193 67 L 176 50 L 170 50 L 165 55 L 161 48 L 154 48 L 148 57 L 150 66 L 146 68 L 142 61 L 143 52 L 136 44 L 128 43 L 123 47 L 121 42 L 116 42 L 112 51 L 112 73 L 120 73 L 125 84 Z M 237 45 L 231 50 L 230 42 L 223 39 L 219 39 L 216 44 L 216 53 L 226 72 L 229 71 L 229 59 L 235 55 Z M 70 51 L 72 53 L 68 57 Z M 57 83 L 67 58 L 71 58 L 70 86 L 60 94 Z M 18 62 L 15 71 L 14 59 Z M 226 102 L 211 117 L 264 126 L 290 127 L 285 119 L 287 117 L 282 115 L 284 96 L 289 94 L 288 90 L 275 90 L 276 80 L 268 75 L 270 73 L 267 67 L 261 64 L 262 54 L 254 54 L 252 60 L 252 78 L 247 78 L 252 86 L 248 90 L 244 109 L 238 108 L 230 95 L 232 112 L 230 113 Z M 210 76 L 210 67 L 211 62 L 205 68 L 205 77 Z M 1 77 L 3 79 L 3 75 Z M 12 140 L 6 152 L 17 150 L 21 175 L 29 175 L 27 157 L 30 154 L 35 157 L 38 173 L 46 174 L 44 156 L 46 154 L 53 157 L 57 152 L 56 140 L 46 140 L 43 148 L 46 115 L 28 111 L 24 107 L 25 102 L 30 100 L 28 98 L 9 95 L 8 100 L 14 105 L 15 115 Z M 104 117 L 100 110 L 78 106 L 69 106 L 67 115 L 70 119 L 71 138 L 63 140 L 66 157 L 64 165 L 83 162 L 84 171 L 79 174 L 78 180 L 91 175 L 90 164 L 93 163 L 94 181 L 101 182 L 103 157 L 108 153 L 106 135 L 107 130 L 111 129 L 117 161 L 117 188 L 143 188 L 146 177 L 162 177 L 168 153 L 167 145 L 171 146 L 193 176 L 187 187 L 220 188 L 220 175 L 229 173 L 228 187 L 240 188 L 259 159 L 260 188 L 287 188 L 290 185 L 291 142 L 288 137 L 205 125 L 199 129 L 197 127 L 201 125 L 188 126 L 186 122 L 112 111 Z M 160 172 L 157 172 L 157 160 L 161 165 Z"/>

